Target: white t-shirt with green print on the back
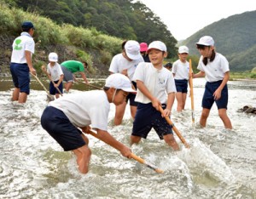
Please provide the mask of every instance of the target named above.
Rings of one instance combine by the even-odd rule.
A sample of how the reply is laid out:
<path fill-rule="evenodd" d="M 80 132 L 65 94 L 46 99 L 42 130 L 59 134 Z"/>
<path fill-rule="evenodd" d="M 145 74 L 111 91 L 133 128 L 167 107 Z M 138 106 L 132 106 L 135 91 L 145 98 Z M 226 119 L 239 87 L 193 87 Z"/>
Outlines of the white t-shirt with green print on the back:
<path fill-rule="evenodd" d="M 30 51 L 32 54 L 35 52 L 35 42 L 30 34 L 26 31 L 21 32 L 20 37 L 15 38 L 13 43 L 13 52 L 11 62 L 17 64 L 25 64 L 25 50 Z"/>

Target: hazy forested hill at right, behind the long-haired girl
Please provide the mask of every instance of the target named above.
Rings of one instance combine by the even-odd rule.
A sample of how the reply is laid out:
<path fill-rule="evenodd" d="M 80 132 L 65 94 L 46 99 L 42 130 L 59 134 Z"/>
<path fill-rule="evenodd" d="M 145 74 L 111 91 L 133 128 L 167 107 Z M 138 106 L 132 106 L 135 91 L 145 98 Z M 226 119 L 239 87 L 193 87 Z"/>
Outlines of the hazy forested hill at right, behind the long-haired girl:
<path fill-rule="evenodd" d="M 198 54 L 195 43 L 204 35 L 212 36 L 216 49 L 230 61 L 231 71 L 250 71 L 256 67 L 256 11 L 219 20 L 186 39 L 190 54 Z"/>

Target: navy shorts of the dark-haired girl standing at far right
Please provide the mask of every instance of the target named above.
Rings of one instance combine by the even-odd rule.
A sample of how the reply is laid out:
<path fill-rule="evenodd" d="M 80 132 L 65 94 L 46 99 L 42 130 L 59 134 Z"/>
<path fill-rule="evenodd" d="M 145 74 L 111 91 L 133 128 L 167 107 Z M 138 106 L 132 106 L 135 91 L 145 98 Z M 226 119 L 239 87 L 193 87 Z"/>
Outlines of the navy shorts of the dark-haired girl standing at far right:
<path fill-rule="evenodd" d="M 215 100 L 213 97 L 213 93 L 217 90 L 219 85 L 222 83 L 221 81 L 218 82 L 207 82 L 205 87 L 205 93 L 201 102 L 201 106 L 206 109 L 211 109 L 212 105 L 215 101 L 218 109 L 228 109 L 228 99 L 229 99 L 229 92 L 227 84 L 224 86 L 221 92 L 221 98 Z"/>

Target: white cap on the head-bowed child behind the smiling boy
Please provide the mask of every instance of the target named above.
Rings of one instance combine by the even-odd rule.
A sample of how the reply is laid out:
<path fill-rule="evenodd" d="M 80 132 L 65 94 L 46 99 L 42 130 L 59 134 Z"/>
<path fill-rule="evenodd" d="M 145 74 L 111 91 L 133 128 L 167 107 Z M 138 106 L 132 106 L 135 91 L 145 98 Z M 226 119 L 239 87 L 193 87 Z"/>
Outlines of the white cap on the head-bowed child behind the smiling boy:
<path fill-rule="evenodd" d="M 125 53 L 131 60 L 138 60 L 141 58 L 140 44 L 137 41 L 129 40 L 125 43 Z"/>

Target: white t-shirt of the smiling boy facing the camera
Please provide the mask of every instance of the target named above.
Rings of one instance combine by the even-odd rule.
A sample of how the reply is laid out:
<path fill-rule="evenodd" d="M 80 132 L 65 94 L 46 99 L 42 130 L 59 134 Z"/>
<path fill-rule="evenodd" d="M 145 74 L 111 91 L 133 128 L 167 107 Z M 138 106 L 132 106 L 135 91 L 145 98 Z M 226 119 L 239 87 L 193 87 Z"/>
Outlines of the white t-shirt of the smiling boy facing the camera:
<path fill-rule="evenodd" d="M 176 92 L 172 72 L 165 67 L 158 70 L 152 63 L 140 63 L 133 76 L 133 81 L 137 82 L 137 80 L 142 81 L 150 94 L 159 99 L 161 104 L 166 104 L 166 93 Z M 151 102 L 139 89 L 137 89 L 135 101 L 143 104 Z"/>

